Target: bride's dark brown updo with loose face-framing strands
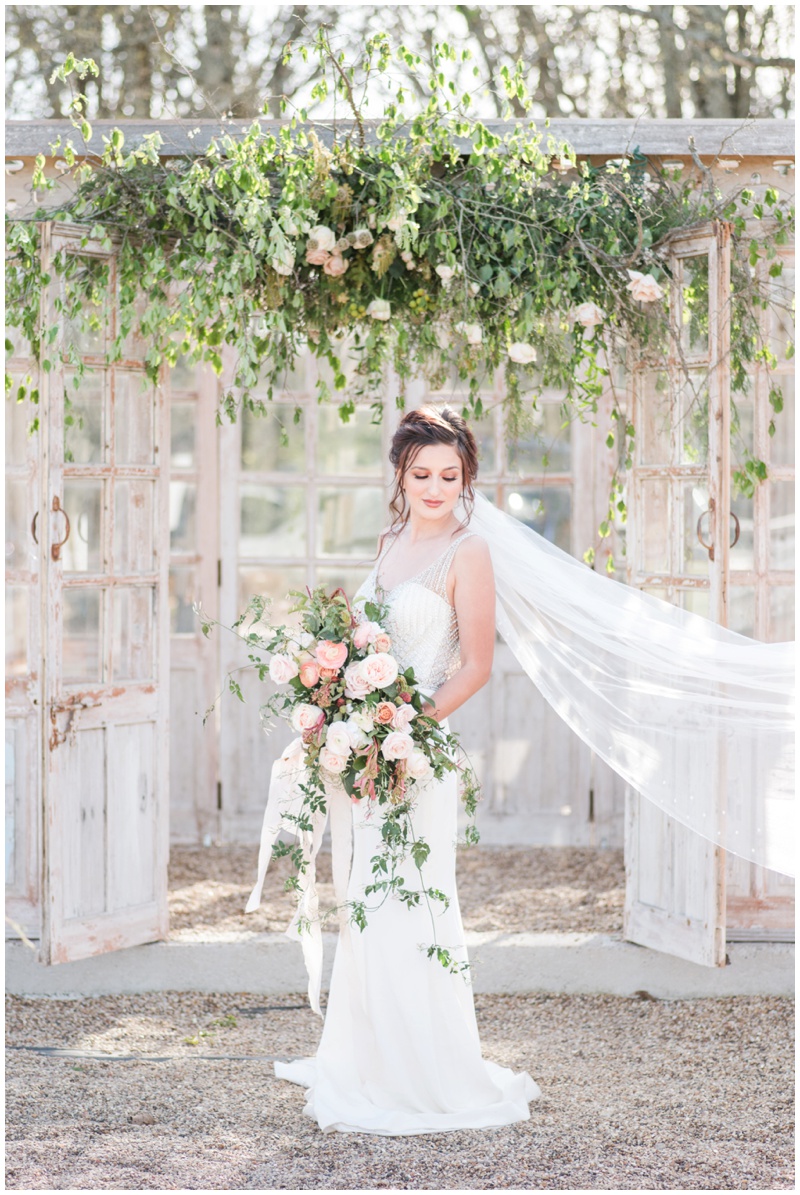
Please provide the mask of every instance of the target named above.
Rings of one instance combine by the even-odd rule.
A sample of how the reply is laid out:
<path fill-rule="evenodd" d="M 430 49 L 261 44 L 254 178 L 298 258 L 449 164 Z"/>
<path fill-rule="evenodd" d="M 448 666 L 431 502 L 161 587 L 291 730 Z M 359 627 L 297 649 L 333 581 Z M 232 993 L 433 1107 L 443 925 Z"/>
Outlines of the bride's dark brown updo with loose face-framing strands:
<path fill-rule="evenodd" d="M 427 445 L 452 445 L 462 459 L 463 485 L 462 501 L 466 511 L 466 521 L 475 505 L 472 482 L 478 474 L 478 446 L 475 442 L 466 419 L 451 406 L 421 406 L 408 411 L 399 422 L 392 436 L 389 459 L 395 466 L 395 489 L 389 509 L 392 513 L 391 529 L 399 532 L 408 522 L 410 509 L 405 503 L 403 476 L 416 454 Z"/>

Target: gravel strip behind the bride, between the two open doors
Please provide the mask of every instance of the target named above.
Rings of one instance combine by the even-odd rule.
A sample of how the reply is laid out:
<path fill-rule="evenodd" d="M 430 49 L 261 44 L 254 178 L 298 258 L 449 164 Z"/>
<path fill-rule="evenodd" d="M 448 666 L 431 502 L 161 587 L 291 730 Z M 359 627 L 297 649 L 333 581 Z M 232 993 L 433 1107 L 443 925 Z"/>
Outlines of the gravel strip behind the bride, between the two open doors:
<path fill-rule="evenodd" d="M 173 846 L 170 933 L 187 939 L 231 931 L 285 930 L 293 902 L 283 891 L 288 859 L 267 872 L 261 908 L 246 917 L 257 847 Z M 330 854 L 318 862 L 320 905 L 334 905 Z M 458 896 L 466 930 L 622 932 L 623 852 L 575 846 L 477 846 L 458 852 Z M 336 931 L 336 918 L 326 929 Z"/>

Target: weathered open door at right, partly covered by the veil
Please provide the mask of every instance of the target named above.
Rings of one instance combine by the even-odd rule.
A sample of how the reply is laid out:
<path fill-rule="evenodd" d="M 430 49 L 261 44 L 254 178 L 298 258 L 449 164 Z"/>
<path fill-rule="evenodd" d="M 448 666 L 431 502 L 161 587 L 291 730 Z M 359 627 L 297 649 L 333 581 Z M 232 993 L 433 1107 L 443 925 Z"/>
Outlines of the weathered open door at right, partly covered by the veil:
<path fill-rule="evenodd" d="M 633 372 L 637 435 L 628 483 L 628 583 L 727 624 L 729 227 L 677 238 L 670 270 L 677 344 L 665 367 L 642 362 Z M 714 797 L 725 799 L 721 766 Z M 725 851 L 628 790 L 628 939 L 725 966 Z"/>

